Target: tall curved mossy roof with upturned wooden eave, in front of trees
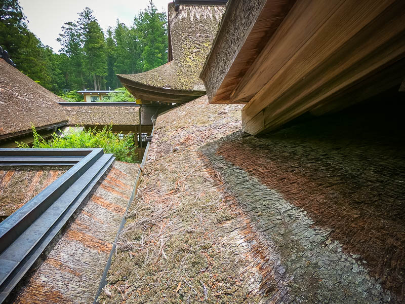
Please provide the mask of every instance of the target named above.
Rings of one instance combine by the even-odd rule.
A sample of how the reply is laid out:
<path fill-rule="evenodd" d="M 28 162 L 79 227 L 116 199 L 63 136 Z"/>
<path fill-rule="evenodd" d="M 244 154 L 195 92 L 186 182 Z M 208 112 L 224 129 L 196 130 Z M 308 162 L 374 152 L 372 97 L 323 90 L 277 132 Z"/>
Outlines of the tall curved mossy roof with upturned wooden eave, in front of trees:
<path fill-rule="evenodd" d="M 184 102 L 205 94 L 199 73 L 211 49 L 225 5 L 217 5 L 218 2 L 212 2 L 216 5 L 189 3 L 180 4 L 178 11 L 174 3 L 168 7 L 170 62 L 143 73 L 118 74 L 121 83 L 136 98 L 165 101 L 165 97 L 169 97 L 173 98 L 169 101 Z"/>

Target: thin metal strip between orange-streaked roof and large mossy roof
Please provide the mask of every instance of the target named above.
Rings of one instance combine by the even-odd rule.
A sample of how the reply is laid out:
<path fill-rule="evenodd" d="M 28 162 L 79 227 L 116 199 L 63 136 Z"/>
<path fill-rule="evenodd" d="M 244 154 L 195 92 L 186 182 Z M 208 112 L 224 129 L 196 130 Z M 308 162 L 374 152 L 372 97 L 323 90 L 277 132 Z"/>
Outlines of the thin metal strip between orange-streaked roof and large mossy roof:
<path fill-rule="evenodd" d="M 153 136 L 154 130 L 155 130 L 155 128 L 153 127 L 152 132 L 150 133 L 150 137 Z M 121 220 L 121 223 L 119 224 L 118 231 L 117 231 L 117 234 L 115 236 L 114 244 L 112 245 L 110 256 L 108 257 L 107 264 L 105 265 L 104 273 L 103 273 L 103 276 L 101 278 L 100 285 L 99 285 L 99 288 L 97 290 L 96 297 L 94 298 L 93 304 L 98 303 L 97 299 L 98 299 L 98 297 L 99 297 L 99 295 L 101 293 L 101 290 L 103 290 L 104 286 L 107 285 L 107 273 L 108 273 L 108 270 L 110 269 L 110 266 L 111 266 L 112 255 L 115 252 L 116 242 L 118 240 L 118 236 L 121 233 L 121 230 L 123 230 L 125 223 L 127 222 L 128 210 L 131 207 L 132 201 L 135 198 L 136 191 L 137 191 L 137 188 L 138 188 L 138 184 L 139 184 L 140 178 L 141 178 L 141 176 L 143 174 L 143 167 L 145 166 L 146 160 L 148 158 L 149 147 L 150 147 L 150 141 L 148 141 L 148 143 L 146 144 L 146 148 L 145 148 L 145 152 L 143 154 L 142 162 L 141 162 L 141 164 L 139 166 L 139 170 L 138 170 L 138 174 L 137 174 L 136 179 L 135 179 L 134 187 L 132 188 L 131 197 L 130 197 L 130 199 L 128 201 L 127 209 L 125 210 L 125 213 L 123 215 L 123 219 Z"/>

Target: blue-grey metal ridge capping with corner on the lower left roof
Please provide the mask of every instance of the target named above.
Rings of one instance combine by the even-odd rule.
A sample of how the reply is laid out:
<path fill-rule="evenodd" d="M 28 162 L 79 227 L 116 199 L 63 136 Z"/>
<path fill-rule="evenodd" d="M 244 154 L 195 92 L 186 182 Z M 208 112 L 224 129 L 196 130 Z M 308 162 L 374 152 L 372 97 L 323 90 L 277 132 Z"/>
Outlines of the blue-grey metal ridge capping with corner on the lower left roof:
<path fill-rule="evenodd" d="M 1 160 L 12 157 L 24 164 L 27 158 L 63 158 L 75 165 L 41 193 L 0 223 L 0 303 L 12 292 L 33 263 L 86 200 L 115 157 L 102 148 L 2 149 Z M 54 161 L 52 162 L 52 159 Z M 42 163 L 42 164 L 44 164 Z"/>

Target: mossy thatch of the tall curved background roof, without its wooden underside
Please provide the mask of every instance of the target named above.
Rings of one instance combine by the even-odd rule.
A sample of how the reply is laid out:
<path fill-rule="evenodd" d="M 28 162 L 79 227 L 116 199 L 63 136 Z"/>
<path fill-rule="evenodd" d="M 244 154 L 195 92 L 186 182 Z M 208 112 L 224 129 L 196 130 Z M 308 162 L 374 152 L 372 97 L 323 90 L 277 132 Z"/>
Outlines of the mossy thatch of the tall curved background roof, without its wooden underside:
<path fill-rule="evenodd" d="M 170 3 L 169 50 L 173 60 L 147 72 L 118 74 L 118 77 L 134 82 L 135 86 L 144 84 L 175 90 L 204 91 L 199 73 L 210 52 L 224 11 L 224 5 L 180 5 L 176 12 L 174 3 Z"/>

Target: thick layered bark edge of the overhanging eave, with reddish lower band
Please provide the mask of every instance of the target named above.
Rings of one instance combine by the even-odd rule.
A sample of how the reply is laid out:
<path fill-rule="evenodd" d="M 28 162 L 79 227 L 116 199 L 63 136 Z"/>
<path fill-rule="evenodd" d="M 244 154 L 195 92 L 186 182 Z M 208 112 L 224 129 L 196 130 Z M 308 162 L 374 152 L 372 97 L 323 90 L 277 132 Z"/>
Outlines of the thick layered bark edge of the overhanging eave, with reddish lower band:
<path fill-rule="evenodd" d="M 232 0 L 228 3 L 214 45 L 200 73 L 210 103 L 246 104 L 249 101 L 234 100 L 231 97 L 232 92 L 295 2 L 296 0 L 255 0 L 248 3 Z M 237 24 L 237 20 L 249 22 Z M 236 40 L 234 36 L 237 32 L 244 33 L 244 36 L 239 37 L 239 46 L 226 45 L 224 42 Z M 229 49 L 234 54 L 224 60 L 228 61 L 227 66 L 222 66 L 224 55 L 232 52 Z"/>

